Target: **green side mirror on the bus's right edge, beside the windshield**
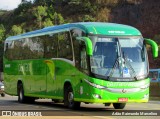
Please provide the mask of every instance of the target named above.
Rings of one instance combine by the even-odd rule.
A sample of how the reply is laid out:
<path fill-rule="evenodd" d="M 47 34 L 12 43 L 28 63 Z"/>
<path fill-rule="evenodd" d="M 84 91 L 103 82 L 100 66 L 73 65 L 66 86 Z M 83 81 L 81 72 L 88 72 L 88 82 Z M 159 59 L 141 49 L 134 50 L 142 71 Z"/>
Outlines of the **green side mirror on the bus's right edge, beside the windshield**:
<path fill-rule="evenodd" d="M 158 45 L 157 45 L 157 43 L 155 41 L 151 40 L 151 39 L 145 39 L 145 43 L 152 47 L 153 58 L 157 58 L 158 57 Z"/>

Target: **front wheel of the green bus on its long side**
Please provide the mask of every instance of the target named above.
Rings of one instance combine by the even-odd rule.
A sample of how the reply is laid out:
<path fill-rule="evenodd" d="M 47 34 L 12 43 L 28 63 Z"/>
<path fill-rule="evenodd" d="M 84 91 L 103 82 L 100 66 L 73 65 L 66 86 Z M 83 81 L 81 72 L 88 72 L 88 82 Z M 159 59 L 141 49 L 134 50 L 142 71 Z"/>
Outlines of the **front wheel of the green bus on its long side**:
<path fill-rule="evenodd" d="M 73 94 L 73 89 L 71 86 L 69 86 L 65 90 L 65 95 L 64 95 L 64 105 L 71 108 L 71 109 L 78 109 L 80 108 L 80 102 L 75 102 L 74 101 L 74 94 Z"/>

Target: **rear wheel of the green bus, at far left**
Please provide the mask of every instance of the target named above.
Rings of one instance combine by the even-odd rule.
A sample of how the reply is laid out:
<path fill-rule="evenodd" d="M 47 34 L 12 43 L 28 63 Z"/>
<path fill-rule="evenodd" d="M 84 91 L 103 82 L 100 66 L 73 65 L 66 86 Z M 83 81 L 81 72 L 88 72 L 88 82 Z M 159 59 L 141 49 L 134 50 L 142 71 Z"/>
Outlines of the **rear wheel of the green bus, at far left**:
<path fill-rule="evenodd" d="M 20 103 L 25 102 L 24 89 L 22 84 L 18 85 L 18 102 Z"/>

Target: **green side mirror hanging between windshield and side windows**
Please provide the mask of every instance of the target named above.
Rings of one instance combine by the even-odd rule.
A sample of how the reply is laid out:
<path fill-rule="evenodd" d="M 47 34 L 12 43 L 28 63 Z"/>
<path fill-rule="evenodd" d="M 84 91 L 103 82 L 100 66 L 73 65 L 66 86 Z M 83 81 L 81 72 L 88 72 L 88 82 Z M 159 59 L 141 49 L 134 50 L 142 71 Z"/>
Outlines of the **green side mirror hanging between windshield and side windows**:
<path fill-rule="evenodd" d="M 76 40 L 80 40 L 80 41 L 85 42 L 87 54 L 93 55 L 92 42 L 88 37 L 77 37 Z"/>

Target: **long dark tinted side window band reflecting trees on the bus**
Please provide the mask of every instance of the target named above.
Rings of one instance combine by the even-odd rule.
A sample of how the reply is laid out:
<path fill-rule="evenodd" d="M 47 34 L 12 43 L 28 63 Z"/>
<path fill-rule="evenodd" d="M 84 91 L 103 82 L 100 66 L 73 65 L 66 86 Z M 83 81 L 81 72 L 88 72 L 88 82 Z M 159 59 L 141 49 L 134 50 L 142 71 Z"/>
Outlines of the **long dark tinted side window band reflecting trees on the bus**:
<path fill-rule="evenodd" d="M 70 32 L 25 38 L 6 43 L 8 59 L 65 58 L 73 60 Z"/>

